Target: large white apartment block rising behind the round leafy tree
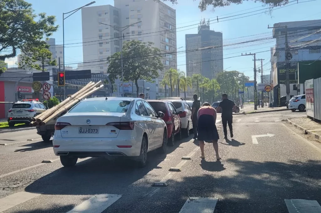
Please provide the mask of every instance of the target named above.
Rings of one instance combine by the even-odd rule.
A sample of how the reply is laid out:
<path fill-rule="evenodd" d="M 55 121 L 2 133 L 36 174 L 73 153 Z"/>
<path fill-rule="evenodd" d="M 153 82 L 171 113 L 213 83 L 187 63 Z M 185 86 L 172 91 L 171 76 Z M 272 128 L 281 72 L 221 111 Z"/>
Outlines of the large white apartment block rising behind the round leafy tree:
<path fill-rule="evenodd" d="M 137 23 L 140 22 L 140 23 Z M 113 27 L 104 25 L 112 25 Z M 135 23 L 135 24 L 134 24 Z M 129 26 L 127 29 L 126 26 Z M 119 28 L 117 28 L 119 27 Z M 150 98 L 162 96 L 164 92 L 158 87 L 165 75 L 165 70 L 177 68 L 176 55 L 176 11 L 153 0 L 114 0 L 114 6 L 103 5 L 82 8 L 83 61 L 91 65 L 92 72 L 106 73 L 106 59 L 120 51 L 123 42 L 153 42 L 164 57 L 164 69 L 155 79 L 155 91 L 150 91 Z M 120 32 L 121 29 L 124 29 Z M 152 95 L 152 92 L 155 93 Z"/>

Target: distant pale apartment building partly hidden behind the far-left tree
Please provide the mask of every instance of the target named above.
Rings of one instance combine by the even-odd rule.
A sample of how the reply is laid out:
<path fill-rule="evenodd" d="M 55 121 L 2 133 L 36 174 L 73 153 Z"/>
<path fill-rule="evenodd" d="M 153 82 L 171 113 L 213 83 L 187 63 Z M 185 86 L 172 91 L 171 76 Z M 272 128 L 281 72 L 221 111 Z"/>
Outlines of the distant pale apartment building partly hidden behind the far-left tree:
<path fill-rule="evenodd" d="M 49 46 L 49 51 L 52 53 L 52 58 L 56 60 L 57 66 L 46 66 L 45 68 L 47 70 L 52 70 L 52 68 L 59 68 L 58 66 L 58 59 L 60 58 L 60 68 L 63 68 L 64 64 L 64 54 L 63 54 L 63 46 L 62 45 L 56 45 L 56 39 L 54 38 L 49 38 L 46 40 L 46 43 Z M 18 63 L 21 62 L 22 56 L 24 53 L 22 52 L 21 54 L 18 55 Z M 35 62 L 35 64 L 42 65 L 40 61 Z M 26 73 L 32 73 L 34 71 L 26 71 Z"/>

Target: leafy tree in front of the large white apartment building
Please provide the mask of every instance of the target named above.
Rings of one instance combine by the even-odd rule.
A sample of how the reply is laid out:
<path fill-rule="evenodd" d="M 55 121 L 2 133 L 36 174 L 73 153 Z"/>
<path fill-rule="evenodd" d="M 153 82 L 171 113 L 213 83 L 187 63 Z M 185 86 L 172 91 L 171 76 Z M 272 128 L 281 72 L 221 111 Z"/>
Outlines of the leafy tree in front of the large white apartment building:
<path fill-rule="evenodd" d="M 158 70 L 163 69 L 160 49 L 152 47 L 152 42 L 130 41 L 123 45 L 123 76 L 124 81 L 133 81 L 138 97 L 138 80 L 154 82 L 159 76 Z M 116 52 L 107 58 L 109 79 L 121 78 L 121 54 Z"/>

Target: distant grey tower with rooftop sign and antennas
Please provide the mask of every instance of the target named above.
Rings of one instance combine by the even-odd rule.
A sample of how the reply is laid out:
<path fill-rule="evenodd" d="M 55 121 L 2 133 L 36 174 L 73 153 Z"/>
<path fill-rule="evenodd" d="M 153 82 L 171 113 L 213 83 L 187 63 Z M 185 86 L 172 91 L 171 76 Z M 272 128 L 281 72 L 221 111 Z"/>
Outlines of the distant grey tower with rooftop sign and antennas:
<path fill-rule="evenodd" d="M 223 34 L 210 30 L 209 22 L 201 22 L 197 34 L 186 34 L 187 76 L 202 74 L 216 79 L 223 71 Z M 200 50 L 202 49 L 202 50 Z"/>

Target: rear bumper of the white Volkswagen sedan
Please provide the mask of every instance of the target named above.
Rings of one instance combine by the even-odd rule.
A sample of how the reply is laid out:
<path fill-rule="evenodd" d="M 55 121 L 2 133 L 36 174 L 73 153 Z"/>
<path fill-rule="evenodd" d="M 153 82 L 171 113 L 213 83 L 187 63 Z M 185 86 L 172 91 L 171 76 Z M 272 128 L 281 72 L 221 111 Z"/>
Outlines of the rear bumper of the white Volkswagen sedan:
<path fill-rule="evenodd" d="M 98 156 L 139 156 L 142 139 L 117 139 L 117 138 L 56 138 L 52 140 L 55 155 L 67 155 L 75 157 Z M 118 146 L 131 146 L 120 148 Z"/>

